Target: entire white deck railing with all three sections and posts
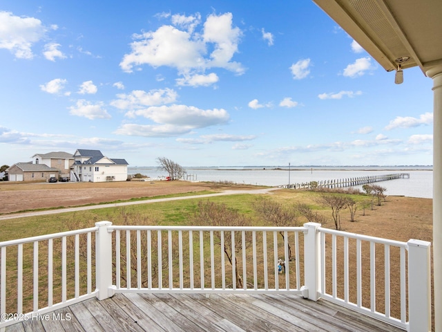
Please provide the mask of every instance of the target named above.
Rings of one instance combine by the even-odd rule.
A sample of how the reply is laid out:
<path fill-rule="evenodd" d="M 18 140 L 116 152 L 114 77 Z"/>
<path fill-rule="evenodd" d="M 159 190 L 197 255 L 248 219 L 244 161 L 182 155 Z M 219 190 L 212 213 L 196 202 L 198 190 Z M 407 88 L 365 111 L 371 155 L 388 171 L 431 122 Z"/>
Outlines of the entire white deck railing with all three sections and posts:
<path fill-rule="evenodd" d="M 0 243 L 0 329 L 114 293 L 288 292 L 323 297 L 408 331 L 431 329 L 425 241 L 365 237 L 318 223 L 95 225 Z"/>

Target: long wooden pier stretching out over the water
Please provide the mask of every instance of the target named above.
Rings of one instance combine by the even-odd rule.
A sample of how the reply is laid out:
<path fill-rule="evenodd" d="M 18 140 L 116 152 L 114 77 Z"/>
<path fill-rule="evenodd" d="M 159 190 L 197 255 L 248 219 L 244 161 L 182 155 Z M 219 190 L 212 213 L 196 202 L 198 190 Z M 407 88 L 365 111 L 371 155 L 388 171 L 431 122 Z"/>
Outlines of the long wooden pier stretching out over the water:
<path fill-rule="evenodd" d="M 278 187 L 288 189 L 354 187 L 355 185 L 365 185 L 367 183 L 390 181 L 396 178 L 410 178 L 410 173 L 358 176 L 356 178 L 338 178 L 334 180 L 310 181 L 306 183 L 291 183 L 289 185 L 280 185 Z"/>

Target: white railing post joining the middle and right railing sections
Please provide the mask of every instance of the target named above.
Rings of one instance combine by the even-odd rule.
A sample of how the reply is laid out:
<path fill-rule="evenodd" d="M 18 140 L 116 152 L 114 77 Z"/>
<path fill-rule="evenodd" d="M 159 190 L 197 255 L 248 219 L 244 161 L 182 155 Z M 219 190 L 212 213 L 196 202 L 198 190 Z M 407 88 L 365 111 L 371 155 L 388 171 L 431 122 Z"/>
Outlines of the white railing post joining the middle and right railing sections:
<path fill-rule="evenodd" d="M 303 297 L 318 301 L 320 298 L 320 223 L 305 223 Z"/>

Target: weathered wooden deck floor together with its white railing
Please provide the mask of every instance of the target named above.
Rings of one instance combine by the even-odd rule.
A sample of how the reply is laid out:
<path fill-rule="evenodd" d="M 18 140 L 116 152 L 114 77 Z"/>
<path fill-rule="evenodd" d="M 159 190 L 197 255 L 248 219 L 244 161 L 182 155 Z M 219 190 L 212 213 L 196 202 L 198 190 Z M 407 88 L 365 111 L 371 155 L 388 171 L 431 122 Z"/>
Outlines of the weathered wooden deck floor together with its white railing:
<path fill-rule="evenodd" d="M 430 331 L 430 243 L 100 221 L 0 242 L 0 313 L 0 331 Z"/>

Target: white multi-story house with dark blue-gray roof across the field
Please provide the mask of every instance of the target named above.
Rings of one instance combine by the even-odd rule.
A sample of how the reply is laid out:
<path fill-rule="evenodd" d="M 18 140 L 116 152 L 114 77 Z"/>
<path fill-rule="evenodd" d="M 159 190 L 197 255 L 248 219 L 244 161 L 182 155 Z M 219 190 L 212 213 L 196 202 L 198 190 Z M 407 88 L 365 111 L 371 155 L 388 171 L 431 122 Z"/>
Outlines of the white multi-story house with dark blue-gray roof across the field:
<path fill-rule="evenodd" d="M 128 163 L 125 159 L 108 158 L 99 150 L 77 149 L 71 167 L 70 181 L 126 181 Z"/>

